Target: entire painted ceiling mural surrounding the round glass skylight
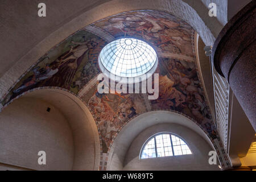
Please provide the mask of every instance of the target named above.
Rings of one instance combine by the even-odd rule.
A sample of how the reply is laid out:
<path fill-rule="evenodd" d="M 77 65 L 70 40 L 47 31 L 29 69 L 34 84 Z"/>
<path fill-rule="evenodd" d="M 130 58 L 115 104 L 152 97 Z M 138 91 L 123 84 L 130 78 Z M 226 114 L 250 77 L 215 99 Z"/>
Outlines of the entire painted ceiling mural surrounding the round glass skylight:
<path fill-rule="evenodd" d="M 222 166 L 229 167 L 197 76 L 194 34 L 189 24 L 162 11 L 141 10 L 110 16 L 82 28 L 53 47 L 20 77 L 1 104 L 6 106 L 35 88 L 69 90 L 89 107 L 101 136 L 101 154 L 108 153 L 118 132 L 137 115 L 151 110 L 176 111 L 191 118 L 207 133 Z M 106 44 L 124 36 L 142 39 L 156 49 L 159 58 L 157 100 L 148 100 L 147 94 L 97 92 L 95 78 L 101 72 L 98 55 Z"/>

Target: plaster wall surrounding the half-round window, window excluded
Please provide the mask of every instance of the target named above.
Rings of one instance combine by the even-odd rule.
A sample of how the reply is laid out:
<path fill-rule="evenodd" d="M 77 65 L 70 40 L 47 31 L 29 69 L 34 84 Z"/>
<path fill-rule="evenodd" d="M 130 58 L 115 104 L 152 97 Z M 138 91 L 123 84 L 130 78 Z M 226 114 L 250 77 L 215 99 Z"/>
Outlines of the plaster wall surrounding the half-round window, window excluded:
<path fill-rule="evenodd" d="M 139 158 L 138 152 L 142 150 L 143 142 L 159 133 L 168 133 L 181 138 L 192 154 L 150 159 Z M 209 151 L 213 151 L 212 147 L 188 127 L 175 123 L 159 123 L 148 127 L 135 137 L 126 152 L 123 170 L 220 170 L 218 160 L 216 160 L 216 165 L 209 164 Z"/>

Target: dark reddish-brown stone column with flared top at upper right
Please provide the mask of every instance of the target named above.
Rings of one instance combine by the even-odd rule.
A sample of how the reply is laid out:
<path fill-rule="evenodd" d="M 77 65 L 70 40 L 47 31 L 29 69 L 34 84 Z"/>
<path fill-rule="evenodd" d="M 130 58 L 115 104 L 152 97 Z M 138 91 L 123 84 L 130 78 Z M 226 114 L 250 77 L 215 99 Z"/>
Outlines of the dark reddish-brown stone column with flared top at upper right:
<path fill-rule="evenodd" d="M 212 61 L 228 80 L 256 131 L 256 1 L 251 1 L 222 29 L 214 43 Z"/>

